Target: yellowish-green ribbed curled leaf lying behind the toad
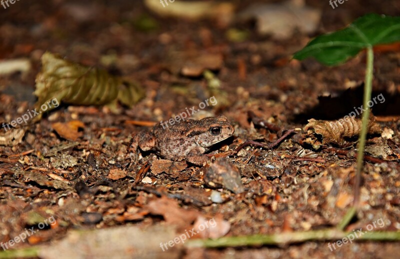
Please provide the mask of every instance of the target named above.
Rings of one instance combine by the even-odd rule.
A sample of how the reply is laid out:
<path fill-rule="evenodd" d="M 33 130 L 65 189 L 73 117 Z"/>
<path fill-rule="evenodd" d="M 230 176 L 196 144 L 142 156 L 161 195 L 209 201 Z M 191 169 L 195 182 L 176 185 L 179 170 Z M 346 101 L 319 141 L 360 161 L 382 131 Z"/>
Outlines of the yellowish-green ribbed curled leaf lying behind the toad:
<path fill-rule="evenodd" d="M 133 83 L 110 75 L 106 70 L 70 62 L 57 54 L 45 52 L 42 68 L 36 75 L 36 107 L 56 98 L 58 102 L 77 105 L 104 105 L 115 108 L 119 100 L 130 106 L 144 95 Z"/>

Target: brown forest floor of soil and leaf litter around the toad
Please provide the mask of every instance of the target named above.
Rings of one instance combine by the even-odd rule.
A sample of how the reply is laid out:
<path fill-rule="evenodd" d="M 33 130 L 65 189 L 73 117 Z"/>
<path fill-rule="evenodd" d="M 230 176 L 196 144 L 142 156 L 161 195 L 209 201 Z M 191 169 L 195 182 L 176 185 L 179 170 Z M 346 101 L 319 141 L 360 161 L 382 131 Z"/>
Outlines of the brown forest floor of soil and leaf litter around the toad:
<path fill-rule="evenodd" d="M 230 3 L 239 13 L 256 2 L 272 1 Z M 333 227 L 351 206 L 355 141 L 315 150 L 299 128 L 310 118 L 338 119 L 361 105 L 365 53 L 335 67 L 291 56 L 311 37 L 365 13 L 399 15 L 400 3 L 348 0 L 334 9 L 328 1 L 306 4 L 321 10 L 315 31 L 295 30 L 285 39 L 261 35 L 254 20 L 234 16 L 226 22 L 223 12 L 195 21 L 161 16 L 142 1 L 0 5 L 0 63 L 25 58 L 31 64 L 0 74 L 0 121 L 33 109 L 45 51 L 105 68 L 145 91 L 139 102 L 121 105 L 116 113 L 108 106 L 60 101 L 37 122 L 23 125 L 20 143 L 0 145 L 0 242 L 9 246 L 0 249 L 0 258 L 22 257 L 32 247 L 39 258 L 397 258 L 398 241 L 354 241 L 335 249 L 328 246 L 335 240 L 223 248 L 174 241 L 160 248 L 186 229 L 197 229 L 191 241 Z M 237 39 L 239 32 L 245 36 Z M 400 230 L 398 44 L 376 48 L 372 96 L 379 94 L 384 101 L 372 111 L 383 132 L 391 132 L 390 140 L 368 136 L 367 145 L 376 148 L 367 153 L 361 206 L 348 231 L 365 231 L 374 222 L 373 230 Z M 132 137 L 152 122 L 212 96 L 217 103 L 190 118 L 224 114 L 235 131 L 212 146 L 210 163 L 165 161 L 129 148 Z M 268 144 L 293 128 L 273 148 L 249 145 L 232 152 L 246 140 Z M 1 128 L 0 137 L 5 133 Z M 237 174 L 239 187 L 232 187 Z M 213 185 L 209 178 L 222 183 Z M 212 223 L 216 227 L 209 228 Z M 36 232 L 28 235 L 32 227 Z M 22 233 L 26 240 L 16 242 Z M 5 253 L 13 250 L 21 254 Z"/>

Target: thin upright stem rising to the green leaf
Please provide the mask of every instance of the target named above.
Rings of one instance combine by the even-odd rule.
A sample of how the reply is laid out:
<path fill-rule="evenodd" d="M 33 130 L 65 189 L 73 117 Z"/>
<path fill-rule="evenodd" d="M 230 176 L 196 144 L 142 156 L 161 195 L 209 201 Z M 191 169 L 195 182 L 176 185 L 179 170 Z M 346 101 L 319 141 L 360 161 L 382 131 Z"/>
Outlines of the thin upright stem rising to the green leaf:
<path fill-rule="evenodd" d="M 364 81 L 364 98 L 363 98 L 363 108 L 365 111 L 362 113 L 362 128 L 361 133 L 358 137 L 358 153 L 357 153 L 357 168 L 355 174 L 355 186 L 354 186 L 354 201 L 353 206 L 358 207 L 359 203 L 359 192 L 361 185 L 361 170 L 364 161 L 364 146 L 365 138 L 368 127 L 369 119 L 369 107 L 368 101 L 371 99 L 372 92 L 372 77 L 373 77 L 373 50 L 372 46 L 366 48 L 366 68 L 365 68 L 365 81 Z"/>

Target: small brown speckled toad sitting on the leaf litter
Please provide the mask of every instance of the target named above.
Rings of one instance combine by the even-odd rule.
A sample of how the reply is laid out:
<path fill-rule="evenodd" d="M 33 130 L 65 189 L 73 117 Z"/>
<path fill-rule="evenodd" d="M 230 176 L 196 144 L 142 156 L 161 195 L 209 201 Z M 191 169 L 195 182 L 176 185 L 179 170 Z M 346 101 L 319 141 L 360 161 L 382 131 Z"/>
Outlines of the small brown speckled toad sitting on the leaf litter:
<path fill-rule="evenodd" d="M 138 145 L 143 151 L 155 150 L 166 159 L 186 159 L 203 165 L 209 159 L 203 155 L 208 147 L 228 138 L 233 126 L 224 115 L 200 120 L 188 119 L 170 124 L 157 124 L 152 131 L 141 131 Z"/>

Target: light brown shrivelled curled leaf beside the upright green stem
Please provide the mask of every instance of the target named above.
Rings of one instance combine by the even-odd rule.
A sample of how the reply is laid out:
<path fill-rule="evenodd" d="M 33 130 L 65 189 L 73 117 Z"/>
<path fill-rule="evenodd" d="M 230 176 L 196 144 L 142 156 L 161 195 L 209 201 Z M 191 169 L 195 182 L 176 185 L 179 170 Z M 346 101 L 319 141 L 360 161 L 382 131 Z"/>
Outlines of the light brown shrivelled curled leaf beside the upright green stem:
<path fill-rule="evenodd" d="M 315 149 L 327 143 L 343 145 L 345 143 L 344 138 L 358 135 L 362 126 L 361 119 L 352 116 L 345 116 L 345 118 L 338 120 L 316 120 L 311 118 L 308 122 L 304 127 L 304 132 L 307 136 L 305 142 L 311 144 Z M 367 126 L 368 134 L 380 133 L 381 131 L 379 124 L 375 122 L 374 116 L 371 115 Z M 317 135 L 322 136 L 322 142 L 320 142 Z"/>

